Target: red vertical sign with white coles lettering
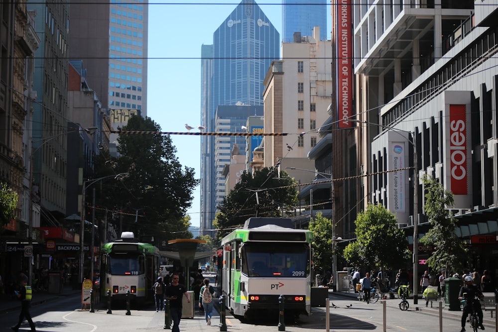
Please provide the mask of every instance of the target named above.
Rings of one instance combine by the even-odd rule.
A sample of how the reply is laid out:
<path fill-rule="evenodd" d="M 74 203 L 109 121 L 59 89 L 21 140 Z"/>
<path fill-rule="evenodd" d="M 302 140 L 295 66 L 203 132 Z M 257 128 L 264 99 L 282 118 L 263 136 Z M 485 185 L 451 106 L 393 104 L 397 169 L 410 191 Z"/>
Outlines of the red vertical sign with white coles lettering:
<path fill-rule="evenodd" d="M 454 195 L 467 195 L 468 155 L 465 105 L 450 105 L 450 178 Z"/>

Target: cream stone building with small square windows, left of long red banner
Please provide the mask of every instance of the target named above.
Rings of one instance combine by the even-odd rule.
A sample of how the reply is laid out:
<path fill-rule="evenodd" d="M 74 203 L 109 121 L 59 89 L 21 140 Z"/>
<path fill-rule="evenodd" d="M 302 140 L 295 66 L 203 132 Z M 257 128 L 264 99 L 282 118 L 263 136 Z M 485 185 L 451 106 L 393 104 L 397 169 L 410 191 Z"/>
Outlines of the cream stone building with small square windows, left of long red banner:
<path fill-rule="evenodd" d="M 320 28 L 299 42 L 282 43 L 282 58 L 273 61 L 264 79 L 264 132 L 289 133 L 264 136 L 264 167 L 314 169 L 307 157 L 320 138 L 319 127 L 329 115 L 332 74 L 329 41 L 320 41 Z M 312 172 L 287 170 L 302 183 L 310 182 Z"/>

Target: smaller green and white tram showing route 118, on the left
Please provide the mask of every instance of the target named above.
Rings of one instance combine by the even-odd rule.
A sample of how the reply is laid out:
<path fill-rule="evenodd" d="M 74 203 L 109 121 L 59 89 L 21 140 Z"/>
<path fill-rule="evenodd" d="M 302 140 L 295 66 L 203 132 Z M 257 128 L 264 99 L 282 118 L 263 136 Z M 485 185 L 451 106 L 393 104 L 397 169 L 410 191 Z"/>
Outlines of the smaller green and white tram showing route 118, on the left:
<path fill-rule="evenodd" d="M 141 243 L 132 232 L 123 232 L 120 240 L 101 249 L 101 300 L 111 291 L 113 300 L 124 300 L 126 291 L 132 300 L 143 303 L 153 299 L 152 285 L 159 275 L 159 249 Z"/>

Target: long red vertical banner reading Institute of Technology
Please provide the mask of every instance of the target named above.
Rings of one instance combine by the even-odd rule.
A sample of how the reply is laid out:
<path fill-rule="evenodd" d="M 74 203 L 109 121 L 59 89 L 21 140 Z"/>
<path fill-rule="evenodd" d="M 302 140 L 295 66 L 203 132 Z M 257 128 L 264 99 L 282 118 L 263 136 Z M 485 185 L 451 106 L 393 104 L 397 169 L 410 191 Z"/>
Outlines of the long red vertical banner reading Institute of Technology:
<path fill-rule="evenodd" d="M 353 5 L 339 0 L 337 5 L 337 111 L 339 128 L 351 128 L 353 114 Z"/>

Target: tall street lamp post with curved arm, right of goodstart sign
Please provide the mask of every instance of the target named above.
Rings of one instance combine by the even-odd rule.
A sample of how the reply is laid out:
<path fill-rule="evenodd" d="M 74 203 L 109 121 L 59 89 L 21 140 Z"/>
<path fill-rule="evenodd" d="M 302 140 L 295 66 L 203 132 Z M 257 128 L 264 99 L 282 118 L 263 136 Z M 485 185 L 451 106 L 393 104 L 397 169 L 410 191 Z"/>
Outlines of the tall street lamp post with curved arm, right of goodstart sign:
<path fill-rule="evenodd" d="M 367 125 L 376 125 L 382 128 L 386 128 L 388 130 L 392 130 L 394 132 L 406 132 L 412 135 L 412 140 L 409 137 L 401 135 L 404 138 L 407 138 L 408 142 L 413 146 L 413 304 L 418 304 L 418 158 L 417 158 L 417 144 L 416 144 L 416 135 L 415 131 L 408 131 L 403 129 L 398 129 L 394 127 L 390 127 L 387 125 L 383 125 L 380 123 L 371 123 L 368 121 L 360 121 L 360 120 L 350 120 L 351 122 L 365 123 Z"/>

